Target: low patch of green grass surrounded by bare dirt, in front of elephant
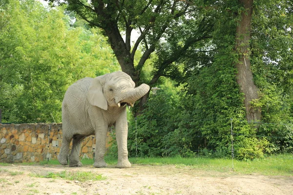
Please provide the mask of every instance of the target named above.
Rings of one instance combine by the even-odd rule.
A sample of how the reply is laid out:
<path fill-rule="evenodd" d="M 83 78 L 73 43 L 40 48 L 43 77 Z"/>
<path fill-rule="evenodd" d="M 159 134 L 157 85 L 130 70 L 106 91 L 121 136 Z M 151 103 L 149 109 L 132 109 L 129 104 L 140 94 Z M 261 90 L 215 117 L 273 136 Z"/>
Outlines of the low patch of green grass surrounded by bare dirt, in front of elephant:
<path fill-rule="evenodd" d="M 49 172 L 46 175 L 40 175 L 40 174 L 30 174 L 30 176 L 34 176 L 34 177 L 42 177 L 42 178 L 62 178 L 62 179 L 66 179 L 66 180 L 74 180 L 74 181 L 89 181 L 89 180 L 93 180 L 93 181 L 100 181 L 100 180 L 105 180 L 106 177 L 102 176 L 102 174 L 94 174 L 91 172 L 82 172 L 82 171 L 78 171 L 78 172 L 67 172 L 67 171 L 62 171 L 59 173 L 52 173 Z"/>

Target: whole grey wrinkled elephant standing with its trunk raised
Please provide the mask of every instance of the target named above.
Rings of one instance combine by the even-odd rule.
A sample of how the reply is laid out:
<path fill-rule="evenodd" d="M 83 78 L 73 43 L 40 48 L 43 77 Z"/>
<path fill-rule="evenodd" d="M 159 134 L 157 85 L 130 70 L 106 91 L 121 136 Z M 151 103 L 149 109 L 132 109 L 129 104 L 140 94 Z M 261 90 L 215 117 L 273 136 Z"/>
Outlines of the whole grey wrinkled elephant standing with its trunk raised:
<path fill-rule="evenodd" d="M 116 129 L 118 168 L 131 167 L 127 151 L 126 105 L 143 97 L 149 86 L 135 87 L 124 72 L 114 72 L 96 78 L 83 78 L 66 91 L 62 103 L 63 140 L 58 155 L 62 165 L 68 164 L 67 154 L 73 138 L 69 166 L 82 166 L 79 158 L 84 137 L 96 135 L 94 167 L 106 167 L 104 160 L 107 129 Z"/>

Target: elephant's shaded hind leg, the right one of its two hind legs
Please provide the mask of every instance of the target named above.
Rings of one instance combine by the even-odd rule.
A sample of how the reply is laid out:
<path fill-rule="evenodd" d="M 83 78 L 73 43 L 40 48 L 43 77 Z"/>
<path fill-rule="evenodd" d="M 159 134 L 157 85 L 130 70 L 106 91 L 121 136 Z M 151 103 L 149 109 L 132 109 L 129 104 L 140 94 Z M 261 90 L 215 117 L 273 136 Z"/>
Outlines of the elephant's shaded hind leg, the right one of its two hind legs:
<path fill-rule="evenodd" d="M 69 156 L 69 166 L 70 167 L 81 167 L 83 163 L 80 161 L 80 150 L 81 150 L 81 143 L 84 139 L 82 135 L 74 135 L 73 142 L 72 142 L 72 150 Z"/>

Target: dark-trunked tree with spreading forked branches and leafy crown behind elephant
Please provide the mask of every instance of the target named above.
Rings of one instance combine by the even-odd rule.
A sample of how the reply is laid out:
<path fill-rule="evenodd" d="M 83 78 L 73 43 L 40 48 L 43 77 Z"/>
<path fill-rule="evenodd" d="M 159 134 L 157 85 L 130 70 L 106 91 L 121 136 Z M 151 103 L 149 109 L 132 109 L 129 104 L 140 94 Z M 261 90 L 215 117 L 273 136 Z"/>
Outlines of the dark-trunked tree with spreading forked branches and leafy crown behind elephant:
<path fill-rule="evenodd" d="M 48 1 L 51 4 L 62 2 Z M 103 30 L 122 71 L 130 75 L 137 85 L 146 82 L 152 86 L 161 76 L 168 75 L 170 67 L 176 70 L 174 62 L 195 43 L 209 39 L 213 25 L 201 9 L 178 0 L 65 0 L 64 3 L 68 10 L 75 11 L 91 26 Z M 186 32 L 179 32 L 180 28 Z M 139 37 L 131 45 L 133 30 L 139 32 Z M 166 40 L 168 44 L 164 44 Z M 134 64 L 140 45 L 143 55 Z M 142 78 L 143 68 L 153 53 L 160 60 L 154 62 L 152 78 L 146 81 Z M 141 99 L 136 115 L 143 110 L 147 97 L 148 94 Z"/>

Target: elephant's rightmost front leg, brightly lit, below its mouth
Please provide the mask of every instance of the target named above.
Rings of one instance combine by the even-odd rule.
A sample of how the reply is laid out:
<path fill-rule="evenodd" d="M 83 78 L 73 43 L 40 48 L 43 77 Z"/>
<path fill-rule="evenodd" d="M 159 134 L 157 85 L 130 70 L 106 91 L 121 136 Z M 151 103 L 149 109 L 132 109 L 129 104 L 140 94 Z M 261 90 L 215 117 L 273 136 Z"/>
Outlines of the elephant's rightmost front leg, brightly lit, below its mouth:
<path fill-rule="evenodd" d="M 116 130 L 116 140 L 118 145 L 118 168 L 130 168 L 131 164 L 128 160 L 128 151 L 127 151 L 127 119 L 126 119 L 126 109 L 118 117 L 115 123 Z"/>

